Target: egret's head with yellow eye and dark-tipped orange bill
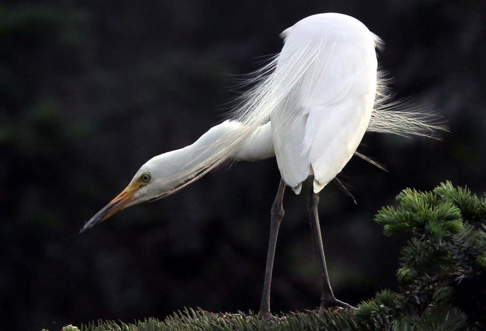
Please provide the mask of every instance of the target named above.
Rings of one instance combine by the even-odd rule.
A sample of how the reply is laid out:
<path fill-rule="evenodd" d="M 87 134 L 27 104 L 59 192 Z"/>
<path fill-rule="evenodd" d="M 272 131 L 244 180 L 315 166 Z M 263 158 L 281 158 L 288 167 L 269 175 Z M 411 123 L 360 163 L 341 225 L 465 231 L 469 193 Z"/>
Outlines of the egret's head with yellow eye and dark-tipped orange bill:
<path fill-rule="evenodd" d="M 81 232 L 91 228 L 96 223 L 104 221 L 106 218 L 116 214 L 123 208 L 133 206 L 140 202 L 154 199 L 164 193 L 165 185 L 160 172 L 157 157 L 149 160 L 137 171 L 128 186 L 102 210 L 94 215 L 81 229 Z"/>

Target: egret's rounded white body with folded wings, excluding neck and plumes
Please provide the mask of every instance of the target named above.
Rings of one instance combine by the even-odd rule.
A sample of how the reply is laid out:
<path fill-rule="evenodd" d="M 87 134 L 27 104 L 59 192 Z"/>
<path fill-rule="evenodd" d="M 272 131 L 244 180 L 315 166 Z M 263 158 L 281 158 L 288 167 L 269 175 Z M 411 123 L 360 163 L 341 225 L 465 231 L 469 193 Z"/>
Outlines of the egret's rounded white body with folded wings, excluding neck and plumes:
<path fill-rule="evenodd" d="M 339 14 L 305 18 L 285 37 L 274 75 L 304 70 L 270 116 L 275 153 L 282 178 L 296 193 L 312 174 L 318 192 L 349 161 L 368 125 L 378 38 Z"/>

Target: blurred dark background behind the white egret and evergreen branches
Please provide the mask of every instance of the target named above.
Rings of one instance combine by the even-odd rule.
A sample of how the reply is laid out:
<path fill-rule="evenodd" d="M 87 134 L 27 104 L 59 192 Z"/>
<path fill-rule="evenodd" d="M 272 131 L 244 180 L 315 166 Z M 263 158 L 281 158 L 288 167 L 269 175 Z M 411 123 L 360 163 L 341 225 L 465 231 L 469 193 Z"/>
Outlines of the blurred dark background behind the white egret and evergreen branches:
<path fill-rule="evenodd" d="M 275 159 L 233 164 L 78 231 L 145 161 L 218 123 L 238 75 L 281 49 L 281 31 L 321 12 L 382 37 L 379 61 L 398 97 L 449 122 L 442 141 L 367 134 L 359 151 L 388 172 L 355 157 L 338 178 L 356 203 L 335 183 L 320 195 L 336 296 L 356 305 L 397 289 L 407 236 L 384 236 L 377 210 L 405 187 L 486 187 L 485 1 L 2 1 L 1 328 L 258 311 Z M 284 199 L 274 312 L 319 304 L 305 198 Z"/>

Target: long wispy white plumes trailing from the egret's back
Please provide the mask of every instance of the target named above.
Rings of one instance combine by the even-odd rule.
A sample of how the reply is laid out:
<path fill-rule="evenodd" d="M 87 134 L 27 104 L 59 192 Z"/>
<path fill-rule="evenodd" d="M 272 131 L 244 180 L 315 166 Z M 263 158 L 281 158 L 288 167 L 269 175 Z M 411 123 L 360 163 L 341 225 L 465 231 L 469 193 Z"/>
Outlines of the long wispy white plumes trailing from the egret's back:
<path fill-rule="evenodd" d="M 282 33 L 284 40 L 291 32 L 292 27 Z M 375 47 L 382 47 L 378 37 Z M 244 84 L 251 87 L 236 100 L 228 116 L 228 119 L 242 123 L 242 129 L 228 133 L 216 141 L 211 146 L 215 151 L 209 157 L 193 160 L 190 169 L 179 174 L 177 180 L 181 184 L 162 196 L 174 193 L 228 161 L 234 151 L 257 131 L 260 125 L 269 121 L 274 109 L 285 106 L 280 103 L 299 83 L 321 52 L 321 47 L 310 47 L 309 43 L 304 43 L 293 51 L 291 58 L 285 61 L 285 66 L 277 66 L 277 55 L 267 65 L 249 75 Z M 386 86 L 387 80 L 381 71 L 377 72 L 377 78 L 375 105 L 366 131 L 394 133 L 407 137 L 433 137 L 435 132 L 445 130 L 439 123 L 440 116 L 421 108 L 409 107 L 403 102 L 392 102 L 392 96 Z M 365 157 L 364 159 L 370 161 Z"/>

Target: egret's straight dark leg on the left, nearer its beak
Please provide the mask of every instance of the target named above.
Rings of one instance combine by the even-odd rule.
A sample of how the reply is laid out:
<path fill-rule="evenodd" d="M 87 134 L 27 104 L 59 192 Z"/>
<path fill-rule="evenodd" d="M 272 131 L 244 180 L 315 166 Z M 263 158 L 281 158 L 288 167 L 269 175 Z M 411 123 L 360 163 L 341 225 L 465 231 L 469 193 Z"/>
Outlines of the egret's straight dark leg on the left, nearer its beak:
<path fill-rule="evenodd" d="M 267 318 L 270 316 L 270 283 L 272 282 L 272 269 L 275 257 L 275 247 L 277 246 L 277 235 L 280 222 L 283 218 L 283 192 L 285 190 L 285 182 L 280 179 L 278 185 L 277 196 L 272 205 L 270 218 L 270 240 L 268 242 L 267 265 L 265 268 L 265 281 L 263 283 L 263 294 L 261 296 L 260 316 Z"/>

